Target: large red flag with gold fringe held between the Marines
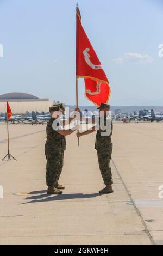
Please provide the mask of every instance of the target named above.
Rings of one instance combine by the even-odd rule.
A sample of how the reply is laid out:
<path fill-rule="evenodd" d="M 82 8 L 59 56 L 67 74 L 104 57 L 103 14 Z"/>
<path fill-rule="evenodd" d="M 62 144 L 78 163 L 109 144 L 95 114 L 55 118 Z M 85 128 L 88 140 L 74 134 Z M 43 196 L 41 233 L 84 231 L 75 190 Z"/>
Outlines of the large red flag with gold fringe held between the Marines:
<path fill-rule="evenodd" d="M 96 106 L 108 103 L 110 87 L 108 78 L 102 68 L 96 52 L 87 38 L 82 27 L 82 19 L 77 5 L 77 49 L 76 49 L 76 77 L 85 80 L 85 95 Z"/>

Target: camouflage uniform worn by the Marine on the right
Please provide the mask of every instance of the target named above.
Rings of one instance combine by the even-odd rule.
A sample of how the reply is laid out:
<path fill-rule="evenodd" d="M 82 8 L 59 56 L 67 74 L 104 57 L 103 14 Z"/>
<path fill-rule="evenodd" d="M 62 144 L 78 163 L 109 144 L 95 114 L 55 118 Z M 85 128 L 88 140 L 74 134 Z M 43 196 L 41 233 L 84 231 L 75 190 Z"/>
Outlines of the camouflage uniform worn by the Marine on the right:
<path fill-rule="evenodd" d="M 104 124 L 106 126 L 106 118 L 104 119 Z M 99 122 L 100 127 L 100 122 Z M 112 120 L 111 120 L 111 133 L 109 136 L 101 136 L 101 129 L 97 131 L 96 135 L 96 144 L 95 149 L 97 150 L 98 156 L 98 163 L 99 169 L 102 174 L 102 178 L 104 180 L 105 185 L 112 185 L 112 174 L 111 174 L 111 167 L 110 167 L 110 160 L 112 154 L 112 142 L 111 142 L 111 135 L 112 135 Z"/>

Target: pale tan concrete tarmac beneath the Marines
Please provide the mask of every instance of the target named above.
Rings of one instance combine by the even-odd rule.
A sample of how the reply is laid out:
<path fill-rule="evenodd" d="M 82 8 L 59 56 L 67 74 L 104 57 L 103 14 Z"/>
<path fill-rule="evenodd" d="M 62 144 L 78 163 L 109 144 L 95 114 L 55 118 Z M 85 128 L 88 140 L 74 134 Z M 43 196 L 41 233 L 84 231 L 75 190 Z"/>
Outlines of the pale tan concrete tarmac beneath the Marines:
<path fill-rule="evenodd" d="M 10 153 L 0 162 L 1 245 L 163 245 L 163 123 L 115 123 L 114 193 L 104 187 L 95 135 L 67 137 L 60 183 L 64 194 L 47 196 L 46 125 L 9 124 Z M 7 154 L 0 123 L 0 159 Z M 163 196 L 163 193 L 162 193 Z"/>

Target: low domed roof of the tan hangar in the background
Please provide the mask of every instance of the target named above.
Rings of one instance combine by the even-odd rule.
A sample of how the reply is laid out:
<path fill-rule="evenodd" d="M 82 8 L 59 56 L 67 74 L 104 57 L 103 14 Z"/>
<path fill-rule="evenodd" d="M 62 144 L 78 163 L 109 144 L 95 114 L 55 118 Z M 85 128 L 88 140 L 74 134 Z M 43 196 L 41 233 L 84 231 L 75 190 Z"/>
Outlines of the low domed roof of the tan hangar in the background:
<path fill-rule="evenodd" d="M 0 100 L 34 100 L 38 97 L 28 93 L 5 93 L 0 95 Z"/>

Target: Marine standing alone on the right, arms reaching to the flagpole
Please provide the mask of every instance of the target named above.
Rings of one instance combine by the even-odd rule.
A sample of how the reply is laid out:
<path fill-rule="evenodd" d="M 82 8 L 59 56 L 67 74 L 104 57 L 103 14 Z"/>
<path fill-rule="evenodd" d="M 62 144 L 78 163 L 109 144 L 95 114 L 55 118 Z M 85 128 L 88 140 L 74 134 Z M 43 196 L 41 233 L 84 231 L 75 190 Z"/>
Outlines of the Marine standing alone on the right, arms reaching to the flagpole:
<path fill-rule="evenodd" d="M 102 174 L 102 178 L 104 181 L 104 184 L 106 187 L 99 191 L 99 193 L 112 193 L 112 174 L 111 174 L 111 167 L 110 167 L 110 160 L 111 160 L 111 154 L 112 154 L 112 141 L 111 141 L 111 135 L 112 135 L 112 120 L 107 120 L 108 118 L 108 111 L 110 111 L 110 105 L 106 105 L 104 103 L 101 104 L 101 106 L 98 108 L 100 112 L 103 112 L 103 117 L 99 117 L 99 129 L 97 130 L 96 134 L 96 143 L 95 143 L 95 149 L 97 150 L 97 157 L 98 157 L 98 163 L 99 163 L 99 169 Z M 101 121 L 103 118 L 103 121 Z M 95 123 L 95 119 L 93 120 L 93 123 Z M 101 124 L 103 123 L 103 124 Z M 107 125 L 109 125 L 107 127 Z M 104 126 L 104 129 L 103 129 Z M 77 133 L 77 137 L 81 137 L 83 135 L 90 134 L 92 132 L 96 131 L 96 126 L 94 126 L 91 130 Z"/>

